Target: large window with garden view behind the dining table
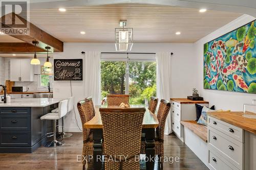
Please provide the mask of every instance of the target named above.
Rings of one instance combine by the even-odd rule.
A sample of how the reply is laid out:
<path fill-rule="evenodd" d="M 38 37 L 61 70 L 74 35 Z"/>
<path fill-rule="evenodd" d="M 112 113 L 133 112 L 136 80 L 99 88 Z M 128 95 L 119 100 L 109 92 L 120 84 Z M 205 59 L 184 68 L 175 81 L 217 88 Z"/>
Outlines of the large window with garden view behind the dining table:
<path fill-rule="evenodd" d="M 101 55 L 101 98 L 130 94 L 130 104 L 145 105 L 156 96 L 155 55 Z"/>

